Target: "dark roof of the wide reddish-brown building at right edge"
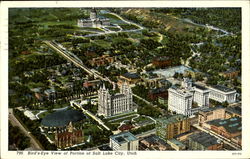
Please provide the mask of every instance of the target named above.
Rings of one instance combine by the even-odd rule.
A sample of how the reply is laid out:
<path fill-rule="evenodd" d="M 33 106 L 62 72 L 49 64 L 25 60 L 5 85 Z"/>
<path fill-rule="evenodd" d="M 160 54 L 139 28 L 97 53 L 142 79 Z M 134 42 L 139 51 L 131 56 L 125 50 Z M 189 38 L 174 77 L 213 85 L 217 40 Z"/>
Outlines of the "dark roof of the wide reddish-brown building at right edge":
<path fill-rule="evenodd" d="M 229 119 L 216 119 L 212 121 L 208 121 L 208 124 L 215 125 L 217 127 L 224 127 L 227 132 L 230 133 L 236 133 L 241 131 L 242 124 L 241 124 L 241 118 L 240 117 L 233 117 Z"/>

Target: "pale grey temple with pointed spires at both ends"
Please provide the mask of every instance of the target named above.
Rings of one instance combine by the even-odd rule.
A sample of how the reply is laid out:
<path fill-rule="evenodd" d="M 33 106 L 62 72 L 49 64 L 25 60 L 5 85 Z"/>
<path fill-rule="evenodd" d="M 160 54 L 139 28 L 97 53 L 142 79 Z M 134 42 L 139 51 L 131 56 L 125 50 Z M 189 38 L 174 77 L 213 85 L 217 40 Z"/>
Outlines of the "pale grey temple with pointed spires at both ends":
<path fill-rule="evenodd" d="M 114 95 L 105 85 L 98 90 L 98 115 L 108 117 L 134 109 L 132 90 L 126 83 L 121 86 L 120 93 Z"/>

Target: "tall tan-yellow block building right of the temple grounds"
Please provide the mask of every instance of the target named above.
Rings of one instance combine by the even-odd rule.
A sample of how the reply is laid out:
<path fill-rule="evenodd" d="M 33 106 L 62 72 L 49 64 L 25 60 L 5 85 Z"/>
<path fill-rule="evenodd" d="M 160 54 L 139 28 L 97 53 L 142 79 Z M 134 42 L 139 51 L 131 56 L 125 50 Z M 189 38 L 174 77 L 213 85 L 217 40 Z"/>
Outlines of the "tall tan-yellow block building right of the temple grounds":
<path fill-rule="evenodd" d="M 178 114 L 156 120 L 156 135 L 165 141 L 188 131 L 190 121 L 184 115 Z"/>

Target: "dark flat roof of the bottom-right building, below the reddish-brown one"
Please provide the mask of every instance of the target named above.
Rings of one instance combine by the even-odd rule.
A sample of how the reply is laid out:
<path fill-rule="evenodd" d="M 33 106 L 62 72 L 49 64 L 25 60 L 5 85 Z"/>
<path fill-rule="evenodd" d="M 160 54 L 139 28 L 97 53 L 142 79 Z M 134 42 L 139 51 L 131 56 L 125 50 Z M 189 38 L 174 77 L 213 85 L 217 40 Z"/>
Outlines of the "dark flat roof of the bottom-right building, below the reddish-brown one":
<path fill-rule="evenodd" d="M 200 133 L 194 133 L 188 137 L 194 142 L 197 142 L 204 147 L 209 147 L 212 145 L 218 144 L 218 139 L 214 136 L 211 136 L 205 132 L 200 132 Z"/>

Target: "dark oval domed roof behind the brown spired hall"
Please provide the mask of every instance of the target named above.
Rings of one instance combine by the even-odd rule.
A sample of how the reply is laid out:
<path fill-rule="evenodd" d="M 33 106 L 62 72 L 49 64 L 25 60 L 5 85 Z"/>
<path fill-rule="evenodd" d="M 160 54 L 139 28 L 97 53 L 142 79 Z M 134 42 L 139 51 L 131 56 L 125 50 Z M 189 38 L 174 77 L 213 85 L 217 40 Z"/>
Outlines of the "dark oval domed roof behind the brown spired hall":
<path fill-rule="evenodd" d="M 77 110 L 60 110 L 45 116 L 42 125 L 48 127 L 61 127 L 68 125 L 69 122 L 77 122 L 85 119 L 83 113 Z"/>

